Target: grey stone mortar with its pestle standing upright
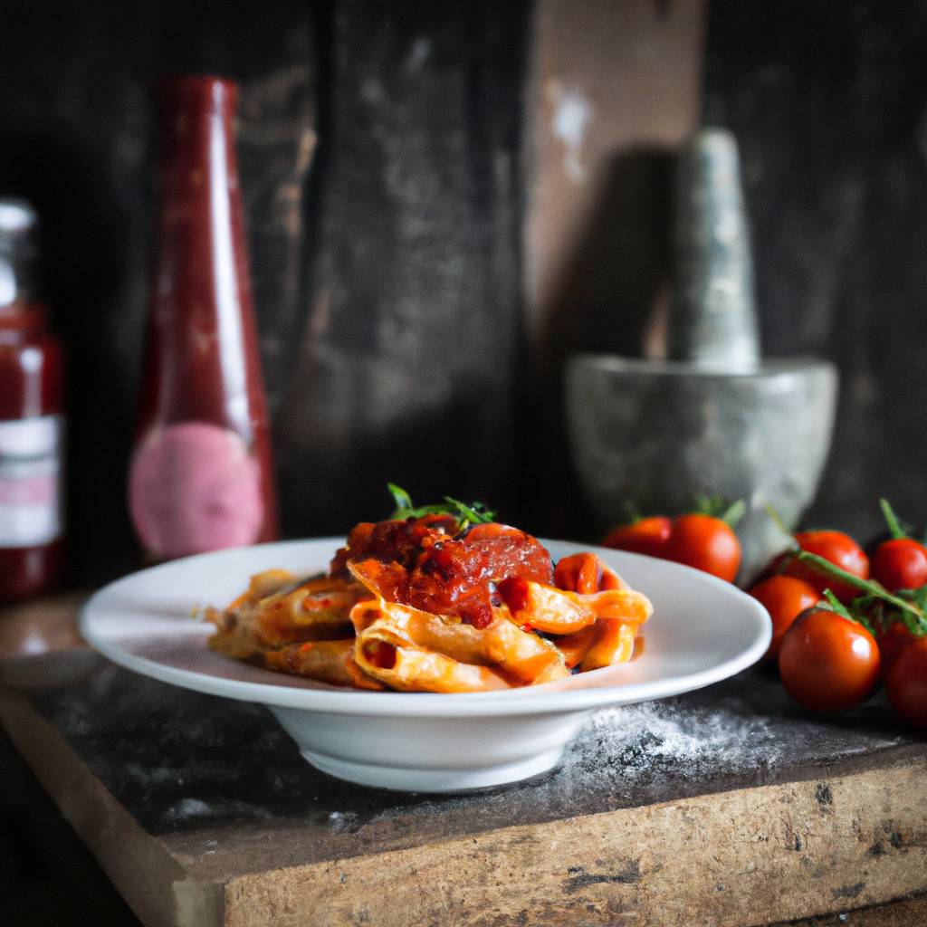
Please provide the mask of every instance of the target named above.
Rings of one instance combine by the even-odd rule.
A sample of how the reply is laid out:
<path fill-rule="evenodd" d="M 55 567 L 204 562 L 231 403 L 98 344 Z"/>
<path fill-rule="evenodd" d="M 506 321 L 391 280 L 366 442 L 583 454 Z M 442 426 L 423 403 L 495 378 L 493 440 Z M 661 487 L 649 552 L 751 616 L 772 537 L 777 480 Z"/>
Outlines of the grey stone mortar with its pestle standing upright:
<path fill-rule="evenodd" d="M 837 374 L 763 360 L 737 143 L 703 129 L 679 157 L 666 361 L 581 354 L 565 373 L 572 457 L 603 526 L 675 514 L 698 495 L 743 499 L 742 578 L 781 549 L 831 444 Z"/>

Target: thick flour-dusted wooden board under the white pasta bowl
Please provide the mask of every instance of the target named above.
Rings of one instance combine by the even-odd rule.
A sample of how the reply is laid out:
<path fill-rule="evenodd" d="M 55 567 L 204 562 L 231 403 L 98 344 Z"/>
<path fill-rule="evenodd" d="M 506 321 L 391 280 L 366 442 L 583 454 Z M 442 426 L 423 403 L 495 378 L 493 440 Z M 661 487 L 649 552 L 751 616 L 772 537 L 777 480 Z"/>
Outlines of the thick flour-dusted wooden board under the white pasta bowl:
<path fill-rule="evenodd" d="M 762 669 L 600 713 L 562 768 L 466 796 L 333 780 L 260 706 L 85 650 L 0 680 L 10 738 L 147 924 L 927 921 L 927 744 L 878 700 L 803 717 Z"/>

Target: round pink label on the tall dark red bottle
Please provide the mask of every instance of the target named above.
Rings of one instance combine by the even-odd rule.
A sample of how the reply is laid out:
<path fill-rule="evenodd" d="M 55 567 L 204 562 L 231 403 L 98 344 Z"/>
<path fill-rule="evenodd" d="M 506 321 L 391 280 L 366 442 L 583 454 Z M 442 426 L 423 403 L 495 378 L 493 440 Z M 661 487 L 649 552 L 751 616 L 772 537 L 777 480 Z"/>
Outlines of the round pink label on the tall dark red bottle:
<path fill-rule="evenodd" d="M 139 537 L 159 557 L 250 544 L 264 519 L 260 468 L 227 428 L 157 428 L 135 451 L 129 507 Z"/>

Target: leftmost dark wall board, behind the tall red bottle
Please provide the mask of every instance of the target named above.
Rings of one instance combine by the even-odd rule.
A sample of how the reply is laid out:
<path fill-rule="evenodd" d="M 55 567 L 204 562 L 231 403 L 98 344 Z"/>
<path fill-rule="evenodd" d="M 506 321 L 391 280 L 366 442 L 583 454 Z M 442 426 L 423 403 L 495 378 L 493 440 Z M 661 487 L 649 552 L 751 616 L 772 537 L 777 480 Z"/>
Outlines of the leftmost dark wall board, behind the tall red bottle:
<path fill-rule="evenodd" d="M 149 86 L 165 71 L 243 84 L 239 151 L 265 371 L 284 388 L 301 325 L 303 187 L 326 11 L 8 2 L 0 10 L 0 190 L 44 222 L 45 281 L 69 350 L 74 578 L 137 565 L 125 475 L 146 313 L 154 138 Z"/>

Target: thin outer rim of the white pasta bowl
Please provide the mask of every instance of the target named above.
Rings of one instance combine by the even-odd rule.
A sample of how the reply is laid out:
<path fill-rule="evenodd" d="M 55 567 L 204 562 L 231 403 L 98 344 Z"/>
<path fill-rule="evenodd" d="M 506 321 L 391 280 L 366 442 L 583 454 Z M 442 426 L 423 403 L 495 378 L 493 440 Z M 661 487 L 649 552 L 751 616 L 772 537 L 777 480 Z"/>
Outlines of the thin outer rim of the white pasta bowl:
<path fill-rule="evenodd" d="M 553 688 L 557 682 L 525 686 L 504 692 L 363 692 L 360 690 L 304 689 L 254 682 L 248 679 L 226 679 L 210 676 L 197 670 L 171 667 L 144 656 L 137 656 L 122 650 L 118 645 L 101 639 L 91 628 L 93 611 L 99 600 L 122 584 L 139 577 L 192 561 L 202 562 L 221 559 L 229 552 L 247 552 L 270 546 L 289 547 L 304 544 L 331 544 L 343 546 L 340 537 L 300 538 L 292 540 L 268 541 L 245 547 L 227 548 L 222 551 L 198 553 L 193 556 L 171 560 L 167 563 L 148 566 L 127 576 L 108 583 L 83 603 L 78 616 L 78 629 L 98 653 L 103 654 L 112 663 L 129 669 L 150 679 L 158 679 L 169 685 L 176 685 L 193 692 L 203 692 L 232 698 L 236 701 L 267 705 L 273 708 L 290 708 L 330 715 L 358 715 L 367 717 L 514 717 L 526 715 L 568 714 L 570 712 L 589 711 L 609 705 L 632 705 L 654 699 L 670 698 L 684 692 L 692 692 L 705 686 L 729 679 L 731 676 L 753 666 L 766 653 L 772 638 L 772 623 L 764 606 L 753 596 L 737 588 L 732 583 L 711 576 L 690 566 L 660 560 L 656 557 L 626 551 L 614 551 L 594 544 L 583 544 L 571 540 L 539 538 L 545 547 L 557 545 L 574 548 L 577 551 L 603 552 L 606 555 L 620 553 L 622 557 L 657 561 L 665 565 L 670 573 L 696 578 L 723 589 L 746 607 L 747 614 L 756 619 L 756 635 L 753 642 L 739 654 L 692 673 L 682 674 L 670 679 L 652 679 L 637 683 L 592 686 L 578 689 Z M 230 658 L 231 659 L 231 658 Z M 592 672 L 601 672 L 593 670 Z M 668 683 L 668 684 L 667 684 Z"/>

